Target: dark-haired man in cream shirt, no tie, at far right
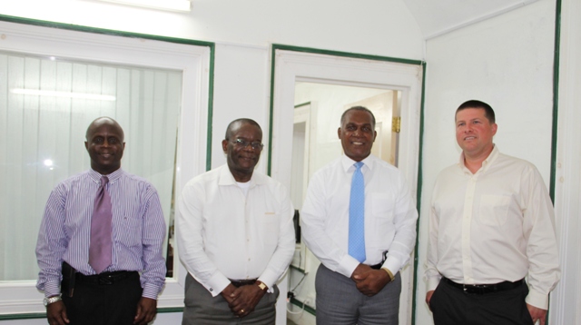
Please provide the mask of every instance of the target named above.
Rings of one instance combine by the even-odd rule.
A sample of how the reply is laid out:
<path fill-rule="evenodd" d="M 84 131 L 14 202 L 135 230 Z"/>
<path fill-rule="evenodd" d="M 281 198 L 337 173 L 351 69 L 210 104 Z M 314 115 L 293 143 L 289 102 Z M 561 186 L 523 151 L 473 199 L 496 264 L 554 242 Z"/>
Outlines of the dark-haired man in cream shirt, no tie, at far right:
<path fill-rule="evenodd" d="M 545 324 L 560 278 L 547 188 L 532 163 L 498 151 L 496 133 L 490 105 L 458 107 L 462 153 L 438 175 L 429 217 L 426 302 L 437 325 Z"/>

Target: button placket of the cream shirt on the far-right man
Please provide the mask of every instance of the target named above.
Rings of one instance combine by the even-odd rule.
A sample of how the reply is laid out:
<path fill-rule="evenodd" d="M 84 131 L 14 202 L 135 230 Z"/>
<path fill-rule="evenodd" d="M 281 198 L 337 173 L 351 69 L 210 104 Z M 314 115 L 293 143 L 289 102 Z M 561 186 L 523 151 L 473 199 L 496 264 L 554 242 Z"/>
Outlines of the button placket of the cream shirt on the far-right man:
<path fill-rule="evenodd" d="M 474 272 L 472 271 L 472 251 L 470 250 L 470 229 L 474 212 L 474 192 L 478 175 L 470 175 L 466 195 L 464 197 L 464 212 L 462 218 L 462 271 L 464 273 L 464 283 L 474 283 Z"/>

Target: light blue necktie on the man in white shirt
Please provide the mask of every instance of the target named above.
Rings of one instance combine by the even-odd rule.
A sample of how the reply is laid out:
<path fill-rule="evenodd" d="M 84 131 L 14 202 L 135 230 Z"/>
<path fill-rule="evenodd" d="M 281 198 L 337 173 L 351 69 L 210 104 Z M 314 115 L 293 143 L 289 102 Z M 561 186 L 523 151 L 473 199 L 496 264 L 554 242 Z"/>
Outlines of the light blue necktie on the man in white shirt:
<path fill-rule="evenodd" d="M 361 166 L 355 162 L 349 200 L 349 254 L 357 261 L 365 261 L 365 181 Z"/>

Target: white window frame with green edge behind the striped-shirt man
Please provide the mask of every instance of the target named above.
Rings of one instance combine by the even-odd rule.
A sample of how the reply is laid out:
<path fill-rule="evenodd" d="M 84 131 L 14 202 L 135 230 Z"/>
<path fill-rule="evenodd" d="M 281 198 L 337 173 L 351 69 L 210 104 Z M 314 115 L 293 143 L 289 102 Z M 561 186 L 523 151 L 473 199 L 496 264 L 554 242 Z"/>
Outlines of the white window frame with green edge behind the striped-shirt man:
<path fill-rule="evenodd" d="M 0 34 L 3 51 L 182 71 L 175 198 L 192 177 L 209 170 L 215 44 L 4 15 L 0 15 Z M 205 145 L 192 147 L 191 143 Z M 166 278 L 158 299 L 161 312 L 181 311 L 183 306 L 187 271 L 177 258 L 177 248 L 173 256 L 173 276 Z M 44 318 L 44 294 L 36 290 L 35 283 L 0 281 L 0 320 Z"/>

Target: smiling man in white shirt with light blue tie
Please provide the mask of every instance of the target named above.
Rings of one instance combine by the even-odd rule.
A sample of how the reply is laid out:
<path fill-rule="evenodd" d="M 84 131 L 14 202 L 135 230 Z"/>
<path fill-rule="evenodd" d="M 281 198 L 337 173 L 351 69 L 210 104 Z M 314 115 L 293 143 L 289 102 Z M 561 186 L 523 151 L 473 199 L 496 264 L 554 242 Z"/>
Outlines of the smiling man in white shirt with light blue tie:
<path fill-rule="evenodd" d="M 313 175 L 300 215 L 303 239 L 321 261 L 317 324 L 398 324 L 399 271 L 418 212 L 403 174 L 371 154 L 373 113 L 351 107 L 340 122 L 345 155 Z"/>

